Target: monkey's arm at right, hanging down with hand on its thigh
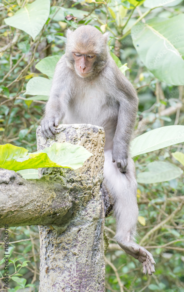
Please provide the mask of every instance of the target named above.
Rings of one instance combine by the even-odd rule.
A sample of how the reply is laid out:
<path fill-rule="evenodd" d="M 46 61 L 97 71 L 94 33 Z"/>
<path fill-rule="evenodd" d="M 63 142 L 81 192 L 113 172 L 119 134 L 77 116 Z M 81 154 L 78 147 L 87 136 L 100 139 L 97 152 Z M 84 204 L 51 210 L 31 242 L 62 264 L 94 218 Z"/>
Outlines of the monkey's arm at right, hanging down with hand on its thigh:
<path fill-rule="evenodd" d="M 121 172 L 126 172 L 129 144 L 137 117 L 138 98 L 130 81 L 115 65 L 114 78 L 117 86 L 116 99 L 119 103 L 116 132 L 113 139 L 112 162 L 117 163 Z"/>

